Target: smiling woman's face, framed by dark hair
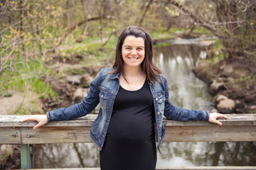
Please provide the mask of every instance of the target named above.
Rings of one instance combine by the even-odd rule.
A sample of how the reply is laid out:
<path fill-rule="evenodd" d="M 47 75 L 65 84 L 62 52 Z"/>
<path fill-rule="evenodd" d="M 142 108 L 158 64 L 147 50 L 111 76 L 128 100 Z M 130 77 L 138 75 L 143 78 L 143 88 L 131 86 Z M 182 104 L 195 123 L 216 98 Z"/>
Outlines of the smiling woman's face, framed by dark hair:
<path fill-rule="evenodd" d="M 125 67 L 140 67 L 145 57 L 144 39 L 129 35 L 122 45 L 122 59 Z"/>

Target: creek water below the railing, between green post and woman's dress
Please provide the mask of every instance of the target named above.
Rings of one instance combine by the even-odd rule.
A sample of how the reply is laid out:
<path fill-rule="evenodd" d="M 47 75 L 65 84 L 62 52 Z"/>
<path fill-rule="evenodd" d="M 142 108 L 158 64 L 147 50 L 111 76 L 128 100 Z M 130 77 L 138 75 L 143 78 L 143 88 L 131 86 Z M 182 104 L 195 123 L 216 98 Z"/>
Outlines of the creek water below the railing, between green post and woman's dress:
<path fill-rule="evenodd" d="M 92 143 L 35 146 L 35 168 L 100 167 L 99 149 Z"/>

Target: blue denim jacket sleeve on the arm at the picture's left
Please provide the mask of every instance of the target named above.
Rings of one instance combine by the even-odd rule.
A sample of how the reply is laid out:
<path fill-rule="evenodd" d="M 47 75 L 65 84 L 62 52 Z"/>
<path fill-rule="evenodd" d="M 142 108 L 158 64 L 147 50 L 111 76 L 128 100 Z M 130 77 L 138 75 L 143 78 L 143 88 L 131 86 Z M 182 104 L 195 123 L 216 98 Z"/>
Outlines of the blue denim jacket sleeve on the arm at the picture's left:
<path fill-rule="evenodd" d="M 101 72 L 93 79 L 88 95 L 80 103 L 76 103 L 68 108 L 58 108 L 54 111 L 47 112 L 48 121 L 72 120 L 91 113 L 100 102 L 98 88 L 100 74 Z"/>

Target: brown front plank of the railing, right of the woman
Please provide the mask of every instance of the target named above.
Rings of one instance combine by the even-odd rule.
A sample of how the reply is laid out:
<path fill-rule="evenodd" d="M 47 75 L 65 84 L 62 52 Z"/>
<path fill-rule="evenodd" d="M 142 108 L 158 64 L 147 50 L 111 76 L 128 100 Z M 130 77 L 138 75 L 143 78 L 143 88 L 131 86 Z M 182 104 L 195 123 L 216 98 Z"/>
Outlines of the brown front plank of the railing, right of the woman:
<path fill-rule="evenodd" d="M 256 126 L 166 126 L 166 142 L 256 141 Z"/>

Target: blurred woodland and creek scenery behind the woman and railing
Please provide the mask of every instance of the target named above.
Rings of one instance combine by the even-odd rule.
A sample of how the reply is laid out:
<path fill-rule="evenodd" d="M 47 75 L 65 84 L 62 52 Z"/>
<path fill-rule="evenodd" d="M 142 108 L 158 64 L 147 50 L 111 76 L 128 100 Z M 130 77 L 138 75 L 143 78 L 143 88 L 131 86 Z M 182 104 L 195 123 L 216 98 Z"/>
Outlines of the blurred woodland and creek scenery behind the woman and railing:
<path fill-rule="evenodd" d="M 151 35 L 174 105 L 256 113 L 255 0 L 1 0 L 0 114 L 45 114 L 80 102 L 95 74 L 112 67 L 127 26 Z M 165 142 L 157 166 L 255 166 L 255 147 Z M 19 149 L 0 145 L 1 169 L 20 166 Z M 94 144 L 35 145 L 35 168 L 95 166 Z"/>

